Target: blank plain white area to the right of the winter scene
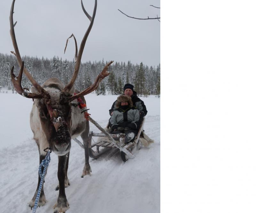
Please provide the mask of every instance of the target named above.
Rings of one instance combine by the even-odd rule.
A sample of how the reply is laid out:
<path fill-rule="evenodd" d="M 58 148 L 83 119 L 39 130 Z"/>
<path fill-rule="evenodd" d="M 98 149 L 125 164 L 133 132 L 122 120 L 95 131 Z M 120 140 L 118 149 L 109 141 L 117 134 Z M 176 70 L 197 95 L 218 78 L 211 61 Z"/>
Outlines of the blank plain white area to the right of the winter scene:
<path fill-rule="evenodd" d="M 161 212 L 255 212 L 255 2 L 161 8 Z"/>

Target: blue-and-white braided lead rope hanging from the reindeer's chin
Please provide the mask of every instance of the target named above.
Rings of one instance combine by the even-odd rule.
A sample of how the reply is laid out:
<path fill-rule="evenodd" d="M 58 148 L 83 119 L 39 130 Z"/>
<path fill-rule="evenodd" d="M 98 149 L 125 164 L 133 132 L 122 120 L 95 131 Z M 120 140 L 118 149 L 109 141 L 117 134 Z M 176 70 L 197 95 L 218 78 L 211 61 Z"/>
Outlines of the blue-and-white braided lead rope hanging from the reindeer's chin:
<path fill-rule="evenodd" d="M 40 193 L 41 193 L 43 183 L 44 183 L 44 176 L 45 176 L 45 173 L 46 173 L 46 169 L 47 169 L 47 166 L 49 165 L 49 163 L 51 161 L 50 153 L 51 153 L 51 151 L 47 152 L 47 155 L 45 156 L 44 160 L 42 160 L 42 163 L 39 165 L 38 170 L 39 170 L 39 175 L 40 175 L 41 181 L 40 181 L 38 192 L 37 192 L 37 195 L 36 195 L 36 201 L 35 201 L 35 205 L 34 205 L 34 208 L 33 208 L 33 213 L 36 213 L 36 208 L 37 208 L 37 205 L 38 205 Z M 43 174 L 42 174 L 42 166 L 44 166 Z"/>

